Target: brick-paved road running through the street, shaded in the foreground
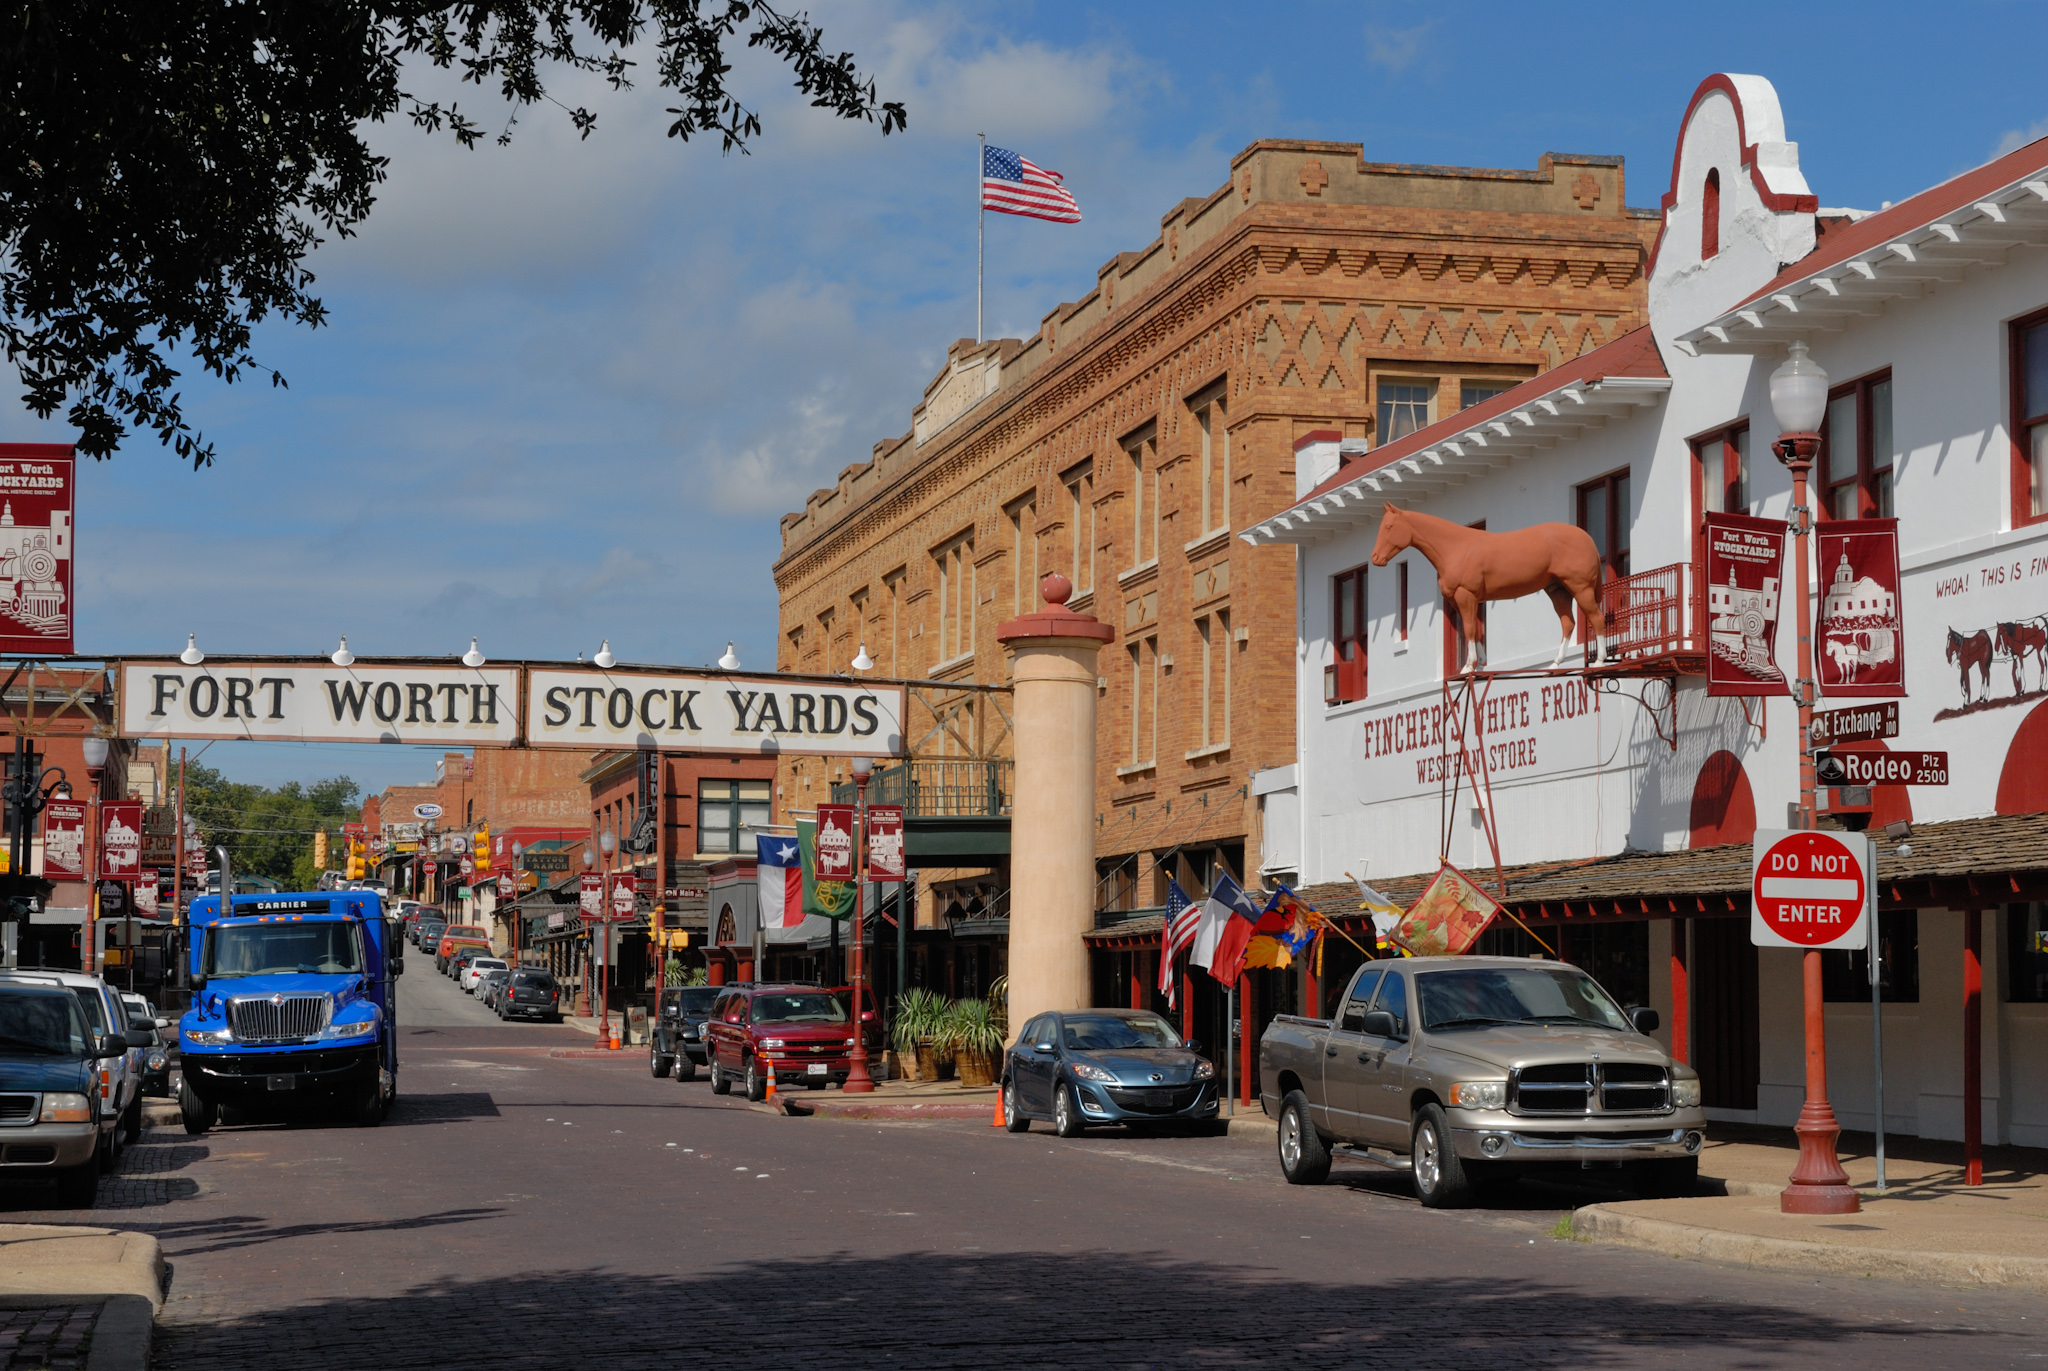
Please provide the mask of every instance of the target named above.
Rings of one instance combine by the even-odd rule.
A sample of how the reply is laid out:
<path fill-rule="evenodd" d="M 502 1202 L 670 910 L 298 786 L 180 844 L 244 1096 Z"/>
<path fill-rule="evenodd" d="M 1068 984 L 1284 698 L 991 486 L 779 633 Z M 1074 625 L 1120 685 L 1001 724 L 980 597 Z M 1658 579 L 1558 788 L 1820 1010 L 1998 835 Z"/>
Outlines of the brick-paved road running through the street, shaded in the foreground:
<path fill-rule="evenodd" d="M 176 1266 L 160 1367 L 2048 1361 L 2036 1297 L 1561 1242 L 1567 1193 L 1438 1213 L 1366 1168 L 1290 1189 L 1225 1137 L 774 1119 L 635 1053 L 549 1057 L 573 1029 L 426 1019 L 381 1129 L 133 1152 L 94 1217 Z"/>

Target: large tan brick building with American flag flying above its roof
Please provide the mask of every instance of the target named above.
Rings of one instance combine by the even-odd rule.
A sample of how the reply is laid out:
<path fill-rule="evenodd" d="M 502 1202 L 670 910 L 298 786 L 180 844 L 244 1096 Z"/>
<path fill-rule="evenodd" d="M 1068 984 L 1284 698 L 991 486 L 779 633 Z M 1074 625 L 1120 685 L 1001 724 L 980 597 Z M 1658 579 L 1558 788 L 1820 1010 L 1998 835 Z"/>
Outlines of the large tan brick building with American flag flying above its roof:
<path fill-rule="evenodd" d="M 1034 336 L 956 342 L 909 432 L 782 518 L 778 666 L 844 672 L 864 643 L 879 676 L 1001 684 L 995 625 L 1057 570 L 1069 607 L 1120 633 L 1081 801 L 1098 945 L 1167 875 L 1194 894 L 1219 867 L 1290 875 L 1260 857 L 1251 779 L 1294 762 L 1294 555 L 1231 533 L 1292 504 L 1296 451 L 1399 439 L 1636 328 L 1655 227 L 1626 209 L 1620 158 L 1475 170 L 1253 143 Z M 913 775 L 999 758 L 995 705 L 913 721 Z M 836 781 L 842 760 L 784 758 L 780 807 Z M 1006 912 L 1006 887 L 1001 869 L 926 869 L 920 928 Z M 1096 961 L 1098 998 L 1143 973 Z"/>

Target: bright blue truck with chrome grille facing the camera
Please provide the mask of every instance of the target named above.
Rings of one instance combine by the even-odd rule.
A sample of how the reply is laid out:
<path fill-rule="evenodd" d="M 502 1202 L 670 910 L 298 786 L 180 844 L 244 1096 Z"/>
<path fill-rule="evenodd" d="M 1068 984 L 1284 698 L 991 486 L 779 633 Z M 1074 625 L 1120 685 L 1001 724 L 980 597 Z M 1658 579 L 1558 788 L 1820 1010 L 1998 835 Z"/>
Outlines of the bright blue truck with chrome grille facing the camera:
<path fill-rule="evenodd" d="M 375 1125 L 397 1098 L 403 941 L 373 889 L 195 900 L 178 1021 L 186 1133 L 221 1111 Z"/>

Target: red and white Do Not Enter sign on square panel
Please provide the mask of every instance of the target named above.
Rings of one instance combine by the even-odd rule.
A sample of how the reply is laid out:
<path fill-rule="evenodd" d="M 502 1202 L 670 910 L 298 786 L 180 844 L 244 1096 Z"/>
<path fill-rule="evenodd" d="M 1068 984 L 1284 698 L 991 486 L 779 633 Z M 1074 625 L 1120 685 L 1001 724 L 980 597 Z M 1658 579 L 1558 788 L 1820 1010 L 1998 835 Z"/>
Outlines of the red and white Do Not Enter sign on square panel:
<path fill-rule="evenodd" d="M 1759 828 L 1751 848 L 1749 941 L 1864 947 L 1876 910 L 1878 844 L 1827 828 Z"/>

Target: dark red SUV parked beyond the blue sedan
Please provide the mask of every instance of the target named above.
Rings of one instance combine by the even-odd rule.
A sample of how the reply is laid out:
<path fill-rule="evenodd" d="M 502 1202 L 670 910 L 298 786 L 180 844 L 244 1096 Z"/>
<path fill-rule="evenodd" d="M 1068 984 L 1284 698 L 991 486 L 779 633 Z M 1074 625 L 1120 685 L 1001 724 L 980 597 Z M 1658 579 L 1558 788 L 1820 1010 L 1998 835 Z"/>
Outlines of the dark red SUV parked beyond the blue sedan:
<path fill-rule="evenodd" d="M 862 1019 L 872 1023 L 872 1010 Z M 854 1060 L 846 1002 L 821 986 L 735 986 L 711 1006 L 705 1037 L 713 1094 L 741 1080 L 750 1100 L 768 1094 L 770 1070 L 778 1088 L 821 1090 L 844 1086 Z"/>

